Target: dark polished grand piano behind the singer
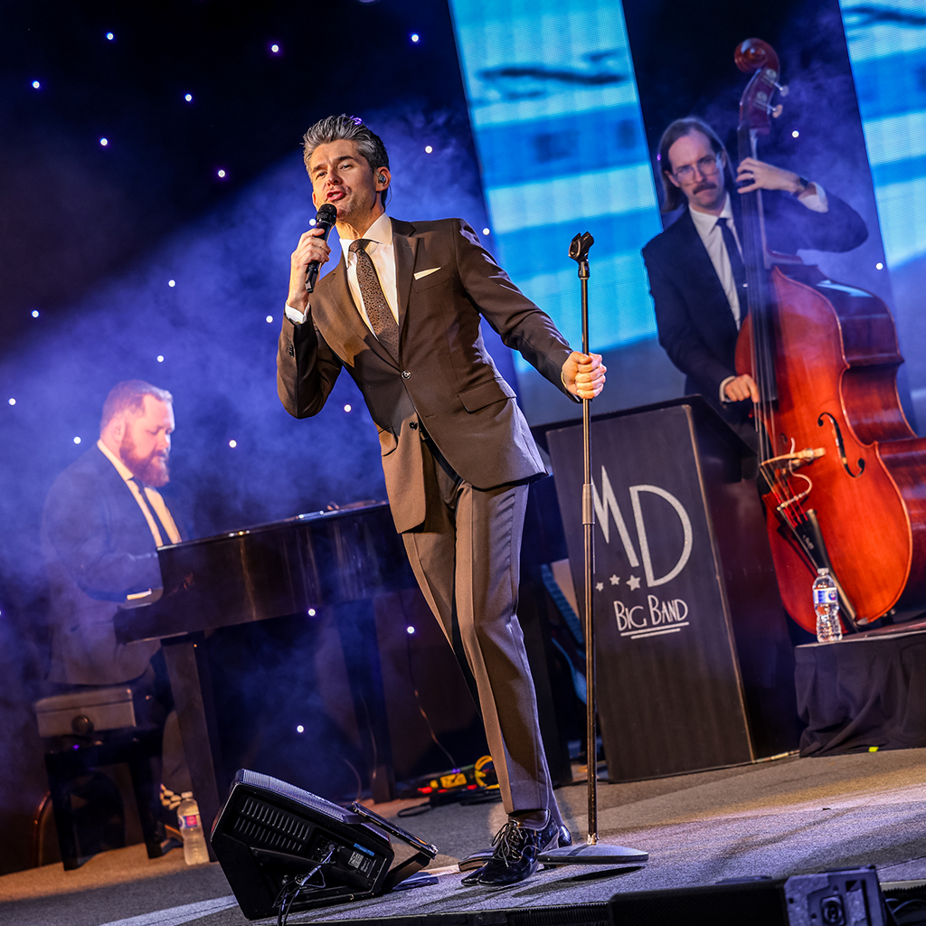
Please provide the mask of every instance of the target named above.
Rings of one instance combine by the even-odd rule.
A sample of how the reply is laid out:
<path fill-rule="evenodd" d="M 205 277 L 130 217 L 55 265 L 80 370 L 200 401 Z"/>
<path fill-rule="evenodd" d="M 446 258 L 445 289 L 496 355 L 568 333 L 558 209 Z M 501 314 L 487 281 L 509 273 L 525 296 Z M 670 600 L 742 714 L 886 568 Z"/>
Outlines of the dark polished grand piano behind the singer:
<path fill-rule="evenodd" d="M 392 746 L 375 646 L 377 599 L 417 589 L 385 502 L 319 511 L 160 547 L 163 588 L 127 603 L 120 643 L 160 640 L 194 794 L 211 826 L 231 785 L 223 769 L 206 633 L 249 621 L 334 615 L 351 695 L 369 718 L 363 737 L 375 801 L 393 799 Z M 448 648 L 449 652 L 449 648 Z M 357 714 L 360 716 L 361 711 Z"/>

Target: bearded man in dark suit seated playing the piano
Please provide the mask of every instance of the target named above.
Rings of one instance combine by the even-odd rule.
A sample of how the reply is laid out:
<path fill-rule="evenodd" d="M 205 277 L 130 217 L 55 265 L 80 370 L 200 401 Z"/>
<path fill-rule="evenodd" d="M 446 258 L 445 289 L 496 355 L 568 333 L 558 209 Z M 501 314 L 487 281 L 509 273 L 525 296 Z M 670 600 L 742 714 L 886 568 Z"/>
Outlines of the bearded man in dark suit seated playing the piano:
<path fill-rule="evenodd" d="M 119 382 L 103 406 L 99 441 L 58 476 L 42 516 L 52 693 L 126 685 L 136 720 L 165 725 L 161 780 L 167 786 L 161 800 L 152 798 L 166 821 L 172 793 L 179 804 L 191 785 L 160 644 L 117 643 L 113 617 L 129 595 L 160 586 L 156 548 L 181 540 L 178 521 L 157 491 L 169 482 L 173 430 L 169 392 L 138 380 Z"/>

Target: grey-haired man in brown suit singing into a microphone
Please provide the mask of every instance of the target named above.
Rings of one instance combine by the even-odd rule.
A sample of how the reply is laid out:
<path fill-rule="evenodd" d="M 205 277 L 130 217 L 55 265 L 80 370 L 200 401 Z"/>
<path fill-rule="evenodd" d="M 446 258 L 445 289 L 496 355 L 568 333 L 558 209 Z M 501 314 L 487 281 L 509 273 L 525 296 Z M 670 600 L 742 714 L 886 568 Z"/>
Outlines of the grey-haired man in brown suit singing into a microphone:
<path fill-rule="evenodd" d="M 571 838 L 546 767 L 516 613 L 528 483 L 544 464 L 480 321 L 575 401 L 601 391 L 606 369 L 598 355 L 569 348 L 466 222 L 386 216 L 389 158 L 359 119 L 312 126 L 305 159 L 316 208 L 337 209 L 342 258 L 308 294 L 307 269 L 330 253 L 322 231 L 306 232 L 293 252 L 280 398 L 296 418 L 315 415 L 342 369 L 364 395 L 395 528 L 475 678 L 508 814 L 494 852 L 464 883 L 519 882 L 541 852 Z"/>

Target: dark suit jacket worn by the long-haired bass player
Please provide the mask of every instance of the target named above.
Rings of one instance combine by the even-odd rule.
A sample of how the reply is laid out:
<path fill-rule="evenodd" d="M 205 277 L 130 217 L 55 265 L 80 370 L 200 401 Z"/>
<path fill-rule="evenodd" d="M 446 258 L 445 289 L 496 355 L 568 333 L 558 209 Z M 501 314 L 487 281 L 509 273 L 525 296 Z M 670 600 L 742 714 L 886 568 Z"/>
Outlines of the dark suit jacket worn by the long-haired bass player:
<path fill-rule="evenodd" d="M 740 241 L 742 222 L 733 192 L 733 218 Z M 773 250 L 799 248 L 849 251 L 868 237 L 864 221 L 851 207 L 827 194 L 827 212 L 813 212 L 789 194 L 765 191 L 766 232 Z M 685 374 L 685 393 L 699 393 L 728 420 L 739 420 L 751 403 L 720 404 L 720 383 L 735 376 L 737 328 L 720 278 L 687 208 L 643 249 L 650 292 L 656 304 L 659 344 Z M 745 299 L 741 317 L 745 318 Z"/>

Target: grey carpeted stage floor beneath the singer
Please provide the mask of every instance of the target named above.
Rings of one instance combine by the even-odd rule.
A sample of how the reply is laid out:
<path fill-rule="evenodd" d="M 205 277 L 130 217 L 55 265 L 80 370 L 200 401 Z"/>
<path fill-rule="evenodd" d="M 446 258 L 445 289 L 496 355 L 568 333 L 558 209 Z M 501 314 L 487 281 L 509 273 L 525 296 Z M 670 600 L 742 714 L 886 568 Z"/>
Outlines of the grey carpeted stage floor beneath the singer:
<path fill-rule="evenodd" d="M 557 795 L 574 836 L 584 838 L 584 785 Z M 401 806 L 377 810 L 389 816 Z M 650 782 L 602 783 L 598 807 L 602 841 L 645 849 L 648 865 L 542 871 L 507 890 L 466 888 L 461 875 L 448 873 L 414 890 L 294 913 L 290 923 L 388 922 L 392 917 L 433 917 L 437 923 L 442 914 L 465 922 L 460 914 L 513 907 L 570 907 L 564 921 L 592 922 L 594 905 L 619 892 L 725 878 L 874 865 L 882 885 L 926 880 L 926 749 L 786 757 Z M 503 821 L 501 806 L 494 804 L 439 807 L 401 822 L 441 850 L 432 867 L 446 867 L 488 845 Z M 577 905 L 590 905 L 587 920 L 576 919 L 582 913 Z M 94 857 L 76 871 L 57 864 L 0 878 L 0 921 L 17 926 L 248 922 L 219 865 L 187 868 L 181 850 L 149 861 L 143 845 Z M 557 917 L 546 921 L 556 923 Z"/>

